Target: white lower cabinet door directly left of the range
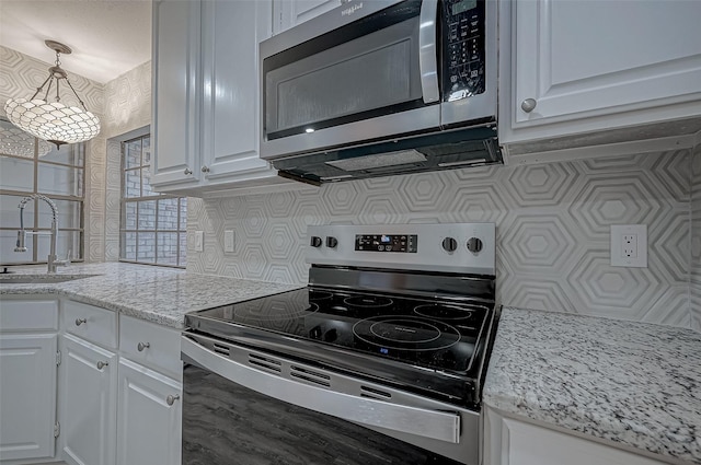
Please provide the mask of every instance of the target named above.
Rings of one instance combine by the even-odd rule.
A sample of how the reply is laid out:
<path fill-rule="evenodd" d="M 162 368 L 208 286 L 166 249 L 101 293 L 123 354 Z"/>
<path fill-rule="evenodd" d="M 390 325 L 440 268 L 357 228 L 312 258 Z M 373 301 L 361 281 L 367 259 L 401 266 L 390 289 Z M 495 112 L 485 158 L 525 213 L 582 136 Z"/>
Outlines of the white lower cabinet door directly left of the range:
<path fill-rule="evenodd" d="M 119 465 L 181 463 L 181 383 L 119 360 Z"/>

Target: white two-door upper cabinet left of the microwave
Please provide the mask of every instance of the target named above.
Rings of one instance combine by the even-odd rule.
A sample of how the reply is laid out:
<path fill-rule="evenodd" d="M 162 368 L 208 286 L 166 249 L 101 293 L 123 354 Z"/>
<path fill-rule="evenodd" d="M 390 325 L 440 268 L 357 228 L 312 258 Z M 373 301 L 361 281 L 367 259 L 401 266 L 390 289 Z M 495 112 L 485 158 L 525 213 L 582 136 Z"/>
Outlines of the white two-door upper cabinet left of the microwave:
<path fill-rule="evenodd" d="M 258 44 L 272 33 L 272 0 L 153 2 L 156 190 L 298 187 L 258 156 Z"/>

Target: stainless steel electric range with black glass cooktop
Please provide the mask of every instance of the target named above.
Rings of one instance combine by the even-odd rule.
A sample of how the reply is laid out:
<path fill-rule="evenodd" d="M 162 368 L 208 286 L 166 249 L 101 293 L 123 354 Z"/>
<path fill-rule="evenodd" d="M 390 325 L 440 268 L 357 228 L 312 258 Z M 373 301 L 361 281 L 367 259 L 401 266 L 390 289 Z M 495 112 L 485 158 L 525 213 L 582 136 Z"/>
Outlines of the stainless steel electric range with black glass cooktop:
<path fill-rule="evenodd" d="M 478 465 L 494 224 L 310 226 L 307 260 L 186 316 L 183 464 Z"/>

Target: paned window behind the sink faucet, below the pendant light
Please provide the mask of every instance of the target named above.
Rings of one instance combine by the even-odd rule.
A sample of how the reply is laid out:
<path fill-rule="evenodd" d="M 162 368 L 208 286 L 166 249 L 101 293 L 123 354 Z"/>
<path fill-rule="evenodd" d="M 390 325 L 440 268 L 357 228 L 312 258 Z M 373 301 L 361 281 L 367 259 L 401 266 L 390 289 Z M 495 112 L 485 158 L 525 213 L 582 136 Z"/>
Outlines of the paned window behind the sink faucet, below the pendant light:
<path fill-rule="evenodd" d="M 56 255 L 83 259 L 85 146 L 56 146 L 37 139 L 0 119 L 0 264 L 43 264 L 48 257 L 51 210 L 42 200 L 24 208 L 26 252 L 14 252 L 20 230 L 20 200 L 43 194 L 58 209 Z"/>

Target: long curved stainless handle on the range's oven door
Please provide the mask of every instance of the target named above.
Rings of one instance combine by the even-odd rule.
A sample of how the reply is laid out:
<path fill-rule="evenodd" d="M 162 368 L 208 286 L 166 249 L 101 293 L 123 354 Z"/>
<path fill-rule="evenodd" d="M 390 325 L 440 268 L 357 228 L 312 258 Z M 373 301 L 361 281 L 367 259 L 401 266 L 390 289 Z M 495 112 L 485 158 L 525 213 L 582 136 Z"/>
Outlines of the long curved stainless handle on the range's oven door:
<path fill-rule="evenodd" d="M 182 354 L 202 368 L 269 397 L 369 428 L 458 444 L 460 415 L 352 396 L 287 380 L 246 367 L 183 337 Z M 185 396 L 185 403 L 187 397 Z"/>

